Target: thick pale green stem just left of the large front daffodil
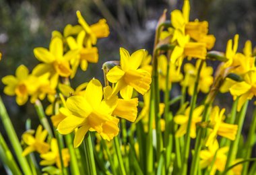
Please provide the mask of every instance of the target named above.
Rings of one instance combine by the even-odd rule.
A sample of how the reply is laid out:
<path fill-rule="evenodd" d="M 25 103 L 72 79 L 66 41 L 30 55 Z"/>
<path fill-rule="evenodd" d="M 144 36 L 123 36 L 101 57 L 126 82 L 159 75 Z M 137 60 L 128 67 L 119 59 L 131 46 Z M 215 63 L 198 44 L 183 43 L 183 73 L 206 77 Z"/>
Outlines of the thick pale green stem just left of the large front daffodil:
<path fill-rule="evenodd" d="M 47 130 L 50 137 L 53 138 L 53 131 L 52 131 L 51 126 L 44 114 L 44 109 L 42 108 L 42 103 L 40 102 L 40 100 L 36 100 L 36 102 L 34 103 L 34 107 L 36 108 L 36 113 L 38 114 L 40 123 L 42 124 L 44 129 Z"/>

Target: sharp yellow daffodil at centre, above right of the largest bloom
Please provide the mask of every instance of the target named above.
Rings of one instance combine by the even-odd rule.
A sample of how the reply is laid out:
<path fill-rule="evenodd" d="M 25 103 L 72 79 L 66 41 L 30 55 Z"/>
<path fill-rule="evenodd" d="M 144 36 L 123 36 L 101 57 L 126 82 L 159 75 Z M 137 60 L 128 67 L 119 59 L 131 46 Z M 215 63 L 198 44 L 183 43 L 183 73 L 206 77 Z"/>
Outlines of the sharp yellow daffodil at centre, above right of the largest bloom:
<path fill-rule="evenodd" d="M 137 50 L 130 56 L 125 48 L 120 48 L 121 63 L 106 74 L 111 83 L 116 83 L 113 96 L 119 91 L 124 99 L 131 99 L 133 88 L 139 94 L 145 94 L 150 89 L 151 75 L 144 69 L 138 69 L 145 57 L 145 50 Z"/>

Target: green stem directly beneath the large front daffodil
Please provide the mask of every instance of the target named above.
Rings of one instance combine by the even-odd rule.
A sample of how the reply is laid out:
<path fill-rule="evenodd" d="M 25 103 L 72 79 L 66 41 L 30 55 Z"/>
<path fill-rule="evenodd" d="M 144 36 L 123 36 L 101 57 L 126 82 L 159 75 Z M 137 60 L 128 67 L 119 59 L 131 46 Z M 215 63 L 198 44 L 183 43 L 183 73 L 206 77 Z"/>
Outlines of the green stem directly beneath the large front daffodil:
<path fill-rule="evenodd" d="M 86 166 L 88 170 L 88 174 L 90 175 L 96 175 L 96 166 L 94 161 L 94 153 L 92 148 L 92 139 L 90 136 L 90 133 L 86 133 L 86 136 L 84 137 L 84 151 L 86 153 Z"/>

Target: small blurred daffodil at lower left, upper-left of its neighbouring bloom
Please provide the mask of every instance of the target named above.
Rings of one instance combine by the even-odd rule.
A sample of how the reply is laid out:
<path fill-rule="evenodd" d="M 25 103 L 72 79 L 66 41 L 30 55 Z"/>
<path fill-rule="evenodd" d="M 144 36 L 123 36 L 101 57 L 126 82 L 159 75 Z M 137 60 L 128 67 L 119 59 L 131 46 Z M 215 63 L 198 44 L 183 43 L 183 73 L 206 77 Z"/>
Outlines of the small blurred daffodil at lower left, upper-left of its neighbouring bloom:
<path fill-rule="evenodd" d="M 49 151 L 50 146 L 48 143 L 44 142 L 47 136 L 46 129 L 42 130 L 42 125 L 39 125 L 36 129 L 36 134 L 34 135 L 34 130 L 27 131 L 22 135 L 22 141 L 28 145 L 22 152 L 22 156 L 26 156 L 33 151 L 38 153 L 46 153 Z"/>

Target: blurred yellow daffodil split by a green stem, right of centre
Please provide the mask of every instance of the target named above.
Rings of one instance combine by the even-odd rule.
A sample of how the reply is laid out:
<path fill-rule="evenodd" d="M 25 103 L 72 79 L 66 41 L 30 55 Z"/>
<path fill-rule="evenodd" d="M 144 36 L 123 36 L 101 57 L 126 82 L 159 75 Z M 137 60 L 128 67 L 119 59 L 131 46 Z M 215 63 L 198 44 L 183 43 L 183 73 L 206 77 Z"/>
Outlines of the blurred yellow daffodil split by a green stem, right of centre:
<path fill-rule="evenodd" d="M 185 79 L 181 82 L 181 85 L 185 85 L 188 87 L 188 93 L 190 96 L 193 94 L 193 90 L 195 87 L 195 79 L 197 76 L 197 71 L 199 68 L 200 61 L 197 61 L 195 67 L 191 63 L 186 63 L 184 65 Z M 214 77 L 212 77 L 212 73 L 214 69 L 212 67 L 207 67 L 206 63 L 203 63 L 201 67 L 199 83 L 198 83 L 198 92 L 201 91 L 203 93 L 207 93 L 210 90 L 210 86 L 214 82 Z"/>

